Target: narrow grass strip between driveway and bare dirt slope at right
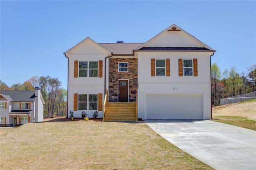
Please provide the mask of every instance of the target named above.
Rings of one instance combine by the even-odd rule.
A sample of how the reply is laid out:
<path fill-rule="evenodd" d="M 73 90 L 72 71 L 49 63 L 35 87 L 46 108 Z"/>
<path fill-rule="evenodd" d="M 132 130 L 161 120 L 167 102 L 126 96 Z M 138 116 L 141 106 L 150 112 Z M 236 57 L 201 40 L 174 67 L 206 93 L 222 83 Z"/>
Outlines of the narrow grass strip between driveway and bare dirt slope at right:
<path fill-rule="evenodd" d="M 231 125 L 234 125 L 234 126 L 239 126 L 239 127 L 247 128 L 247 129 L 251 129 L 251 130 L 256 130 L 256 121 L 249 120 L 245 117 L 215 116 L 215 117 L 213 117 L 212 121 L 231 124 Z"/>

